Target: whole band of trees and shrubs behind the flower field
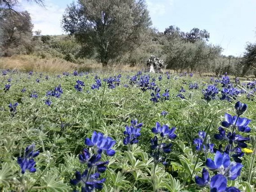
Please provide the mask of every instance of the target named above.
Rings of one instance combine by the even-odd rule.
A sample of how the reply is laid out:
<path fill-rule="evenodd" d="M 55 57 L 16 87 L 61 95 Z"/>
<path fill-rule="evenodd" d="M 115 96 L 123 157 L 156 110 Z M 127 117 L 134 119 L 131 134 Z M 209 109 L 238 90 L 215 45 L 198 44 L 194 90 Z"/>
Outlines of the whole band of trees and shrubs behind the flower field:
<path fill-rule="evenodd" d="M 42 0 L 34 2 L 44 6 Z M 0 56 L 34 54 L 82 64 L 84 59 L 109 64 L 145 65 L 151 55 L 164 59 L 177 72 L 223 72 L 256 76 L 256 43 L 247 43 L 243 57 L 223 56 L 210 44 L 207 30 L 181 31 L 170 25 L 164 32 L 151 27 L 145 0 L 78 0 L 67 6 L 62 28 L 68 35 L 32 32 L 28 12 L 17 12 L 17 0 L 0 0 Z"/>

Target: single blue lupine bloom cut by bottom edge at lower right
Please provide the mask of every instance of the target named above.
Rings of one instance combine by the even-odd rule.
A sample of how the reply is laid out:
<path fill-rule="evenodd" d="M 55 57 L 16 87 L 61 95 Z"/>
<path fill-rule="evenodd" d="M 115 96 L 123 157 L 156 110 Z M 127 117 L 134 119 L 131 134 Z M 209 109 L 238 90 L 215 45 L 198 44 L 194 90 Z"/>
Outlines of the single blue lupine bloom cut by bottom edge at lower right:
<path fill-rule="evenodd" d="M 211 178 L 210 192 L 224 192 L 226 190 L 227 180 L 222 174 L 217 174 Z"/>

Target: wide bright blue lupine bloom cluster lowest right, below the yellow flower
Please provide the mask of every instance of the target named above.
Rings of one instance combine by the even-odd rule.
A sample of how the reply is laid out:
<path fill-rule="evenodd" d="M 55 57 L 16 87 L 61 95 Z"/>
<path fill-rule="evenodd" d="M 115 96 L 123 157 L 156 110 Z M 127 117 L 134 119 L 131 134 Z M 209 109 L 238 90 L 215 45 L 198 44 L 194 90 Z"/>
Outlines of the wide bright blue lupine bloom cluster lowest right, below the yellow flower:
<path fill-rule="evenodd" d="M 241 163 L 230 162 L 229 155 L 225 153 L 222 155 L 219 151 L 216 151 L 214 161 L 207 158 L 206 166 L 210 170 L 218 170 L 229 180 L 235 180 L 240 175 L 243 167 Z"/>

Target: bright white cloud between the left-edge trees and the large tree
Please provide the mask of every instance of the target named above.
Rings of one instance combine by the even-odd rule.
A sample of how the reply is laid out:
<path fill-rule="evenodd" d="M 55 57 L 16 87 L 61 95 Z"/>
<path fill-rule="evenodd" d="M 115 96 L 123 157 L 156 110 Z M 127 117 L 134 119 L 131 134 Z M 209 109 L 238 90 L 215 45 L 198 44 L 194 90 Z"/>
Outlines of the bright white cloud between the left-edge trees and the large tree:
<path fill-rule="evenodd" d="M 65 9 L 53 4 L 52 1 L 45 1 L 46 7 L 41 7 L 35 3 L 22 3 L 22 9 L 30 13 L 33 31 L 41 30 L 42 35 L 65 34 L 61 28 L 62 15 Z"/>

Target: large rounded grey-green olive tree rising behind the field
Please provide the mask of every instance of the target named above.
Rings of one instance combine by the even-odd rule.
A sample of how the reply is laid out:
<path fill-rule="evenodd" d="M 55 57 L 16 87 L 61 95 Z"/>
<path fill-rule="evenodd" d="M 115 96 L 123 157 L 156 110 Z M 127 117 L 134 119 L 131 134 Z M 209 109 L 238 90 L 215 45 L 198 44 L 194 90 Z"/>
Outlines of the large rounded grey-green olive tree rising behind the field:
<path fill-rule="evenodd" d="M 145 0 L 78 0 L 62 19 L 64 31 L 81 46 L 93 47 L 103 66 L 139 46 L 150 25 Z"/>

